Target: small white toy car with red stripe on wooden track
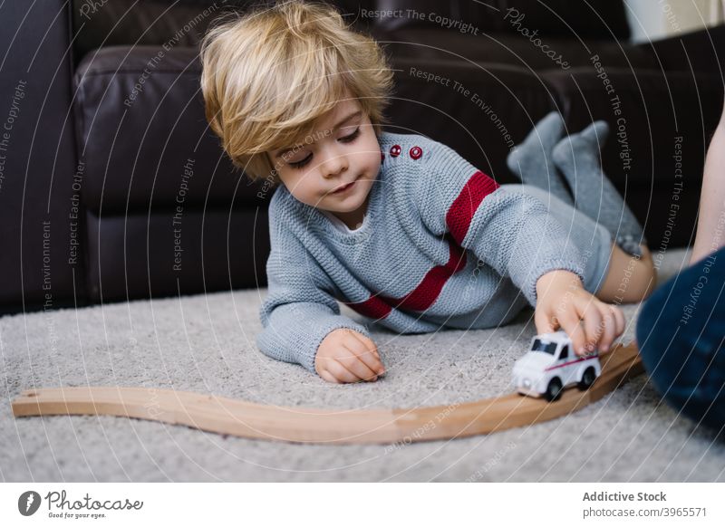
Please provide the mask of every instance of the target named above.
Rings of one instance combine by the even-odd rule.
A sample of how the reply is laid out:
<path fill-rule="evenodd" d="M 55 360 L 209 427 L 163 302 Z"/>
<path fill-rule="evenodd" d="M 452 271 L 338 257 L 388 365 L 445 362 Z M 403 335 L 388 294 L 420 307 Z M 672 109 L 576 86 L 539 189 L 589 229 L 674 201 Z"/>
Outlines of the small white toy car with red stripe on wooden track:
<path fill-rule="evenodd" d="M 518 393 L 554 401 L 567 385 L 589 388 L 601 373 L 597 352 L 579 357 L 568 335 L 556 331 L 531 340 L 531 350 L 514 364 L 514 384 Z"/>

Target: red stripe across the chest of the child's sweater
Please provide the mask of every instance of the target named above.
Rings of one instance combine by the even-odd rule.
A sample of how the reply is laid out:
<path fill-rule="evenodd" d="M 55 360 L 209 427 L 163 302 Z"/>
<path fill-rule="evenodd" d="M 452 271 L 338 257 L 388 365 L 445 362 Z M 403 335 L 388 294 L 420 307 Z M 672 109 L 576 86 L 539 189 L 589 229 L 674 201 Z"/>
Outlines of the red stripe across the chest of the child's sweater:
<path fill-rule="evenodd" d="M 466 266 L 465 251 L 455 241 L 449 239 L 448 236 L 447 238 L 449 247 L 448 262 L 444 265 L 432 267 L 411 292 L 401 298 L 378 294 L 364 302 L 353 302 L 347 305 L 363 316 L 373 319 L 385 318 L 395 308 L 412 311 L 427 310 L 433 305 L 433 302 L 436 302 L 440 292 L 443 290 L 443 286 L 448 282 L 449 278 Z"/>

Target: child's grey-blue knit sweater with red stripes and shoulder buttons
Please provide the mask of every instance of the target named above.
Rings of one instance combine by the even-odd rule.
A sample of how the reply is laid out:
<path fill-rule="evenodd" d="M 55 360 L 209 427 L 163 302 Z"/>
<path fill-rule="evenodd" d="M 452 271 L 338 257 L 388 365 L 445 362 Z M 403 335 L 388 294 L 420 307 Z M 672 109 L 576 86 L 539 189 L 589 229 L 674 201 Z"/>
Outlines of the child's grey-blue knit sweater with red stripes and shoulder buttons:
<path fill-rule="evenodd" d="M 276 189 L 256 341 L 266 355 L 314 372 L 330 331 L 369 337 L 338 301 L 401 333 L 482 329 L 536 305 L 541 275 L 583 277 L 581 255 L 536 198 L 507 192 L 437 141 L 382 133 L 380 145 L 367 214 L 352 232 Z"/>

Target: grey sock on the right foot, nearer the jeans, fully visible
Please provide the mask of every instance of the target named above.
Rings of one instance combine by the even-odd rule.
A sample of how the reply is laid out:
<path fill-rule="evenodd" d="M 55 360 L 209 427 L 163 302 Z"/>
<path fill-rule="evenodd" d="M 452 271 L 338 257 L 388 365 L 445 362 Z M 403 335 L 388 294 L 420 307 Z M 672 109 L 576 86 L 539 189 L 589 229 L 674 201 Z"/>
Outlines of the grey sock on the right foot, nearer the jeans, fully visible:
<path fill-rule="evenodd" d="M 581 132 L 560 140 L 552 158 L 569 182 L 575 208 L 609 229 L 625 252 L 641 256 L 640 244 L 646 243 L 642 225 L 602 170 L 600 149 L 608 133 L 609 125 L 597 120 Z"/>

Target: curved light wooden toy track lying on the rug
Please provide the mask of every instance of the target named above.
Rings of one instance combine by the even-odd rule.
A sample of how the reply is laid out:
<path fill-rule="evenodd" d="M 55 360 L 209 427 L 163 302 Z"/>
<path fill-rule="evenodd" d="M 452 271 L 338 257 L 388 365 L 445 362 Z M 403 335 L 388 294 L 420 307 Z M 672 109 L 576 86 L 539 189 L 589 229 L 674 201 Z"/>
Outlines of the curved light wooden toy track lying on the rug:
<path fill-rule="evenodd" d="M 553 403 L 511 394 L 449 406 L 373 410 L 275 407 L 156 388 L 83 387 L 25 390 L 14 417 L 110 415 L 186 425 L 231 436 L 299 443 L 410 443 L 475 436 L 528 426 L 585 407 L 643 371 L 633 344 L 600 356 L 592 388 L 565 390 Z"/>

